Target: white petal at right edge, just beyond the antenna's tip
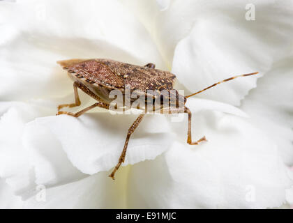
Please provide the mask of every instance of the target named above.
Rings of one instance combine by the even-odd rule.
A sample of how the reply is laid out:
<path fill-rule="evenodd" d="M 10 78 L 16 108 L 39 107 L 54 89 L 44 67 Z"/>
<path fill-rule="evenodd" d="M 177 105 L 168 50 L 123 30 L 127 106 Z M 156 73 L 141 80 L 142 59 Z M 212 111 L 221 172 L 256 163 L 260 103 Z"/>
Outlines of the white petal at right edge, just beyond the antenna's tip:
<path fill-rule="evenodd" d="M 276 63 L 257 80 L 243 100 L 241 109 L 250 114 L 251 122 L 276 141 L 286 164 L 293 164 L 293 56 Z"/>

